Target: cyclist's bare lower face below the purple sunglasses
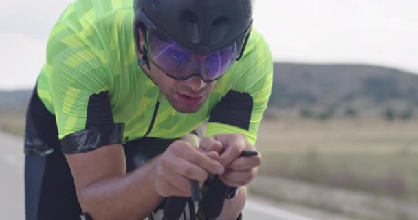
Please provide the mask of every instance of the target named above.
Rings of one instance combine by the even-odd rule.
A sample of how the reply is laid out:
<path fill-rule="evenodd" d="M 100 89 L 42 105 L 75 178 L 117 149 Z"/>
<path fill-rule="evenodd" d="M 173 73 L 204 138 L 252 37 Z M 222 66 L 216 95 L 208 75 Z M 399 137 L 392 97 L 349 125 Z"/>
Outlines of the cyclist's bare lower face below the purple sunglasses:
<path fill-rule="evenodd" d="M 216 84 L 216 81 L 205 83 L 199 76 L 194 76 L 184 81 L 175 80 L 167 76 L 152 62 L 150 62 L 150 67 L 151 72 L 146 65 L 143 66 L 143 69 L 161 89 L 162 94 L 166 96 L 171 106 L 181 113 L 195 113 L 199 111 Z"/>

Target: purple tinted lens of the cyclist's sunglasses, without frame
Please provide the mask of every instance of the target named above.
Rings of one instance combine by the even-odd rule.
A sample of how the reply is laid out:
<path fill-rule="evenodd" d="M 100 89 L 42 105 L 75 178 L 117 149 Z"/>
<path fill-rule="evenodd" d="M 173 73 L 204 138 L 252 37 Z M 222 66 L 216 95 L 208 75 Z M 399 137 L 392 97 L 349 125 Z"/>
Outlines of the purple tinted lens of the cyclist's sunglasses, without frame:
<path fill-rule="evenodd" d="M 232 66 L 238 57 L 239 43 L 210 54 L 194 54 L 175 43 L 164 32 L 148 32 L 148 51 L 151 61 L 170 76 L 186 79 L 200 74 L 203 80 L 219 78 Z"/>

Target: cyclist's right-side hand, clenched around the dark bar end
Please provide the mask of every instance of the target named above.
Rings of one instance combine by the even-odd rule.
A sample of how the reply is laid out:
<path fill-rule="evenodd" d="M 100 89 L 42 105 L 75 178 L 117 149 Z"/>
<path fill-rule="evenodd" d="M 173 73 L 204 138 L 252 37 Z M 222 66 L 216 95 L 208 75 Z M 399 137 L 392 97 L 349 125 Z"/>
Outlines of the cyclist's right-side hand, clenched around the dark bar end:
<path fill-rule="evenodd" d="M 228 186 L 245 186 L 252 181 L 259 170 L 261 155 L 239 157 L 243 151 L 254 151 L 252 144 L 241 134 L 220 134 L 203 138 L 200 142 L 203 150 L 219 153 L 219 162 L 225 166 L 225 173 L 219 175 Z"/>

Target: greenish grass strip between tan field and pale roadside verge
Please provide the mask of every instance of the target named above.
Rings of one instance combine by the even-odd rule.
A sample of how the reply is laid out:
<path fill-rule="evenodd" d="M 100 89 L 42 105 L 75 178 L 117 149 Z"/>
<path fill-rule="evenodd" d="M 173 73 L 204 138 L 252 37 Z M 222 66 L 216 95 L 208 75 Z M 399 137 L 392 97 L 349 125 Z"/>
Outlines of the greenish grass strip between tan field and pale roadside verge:
<path fill-rule="evenodd" d="M 266 155 L 262 175 L 289 177 L 325 186 L 373 192 L 391 197 L 418 199 L 417 157 L 305 153 Z"/>

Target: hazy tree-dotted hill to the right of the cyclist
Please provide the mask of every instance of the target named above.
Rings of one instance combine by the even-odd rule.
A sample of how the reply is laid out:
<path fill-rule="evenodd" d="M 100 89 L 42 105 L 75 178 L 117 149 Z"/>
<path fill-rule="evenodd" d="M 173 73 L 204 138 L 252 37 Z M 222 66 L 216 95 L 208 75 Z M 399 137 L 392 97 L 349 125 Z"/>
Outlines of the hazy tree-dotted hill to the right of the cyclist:
<path fill-rule="evenodd" d="M 270 105 L 386 106 L 403 102 L 418 105 L 418 75 L 372 65 L 312 65 L 274 63 Z"/>

